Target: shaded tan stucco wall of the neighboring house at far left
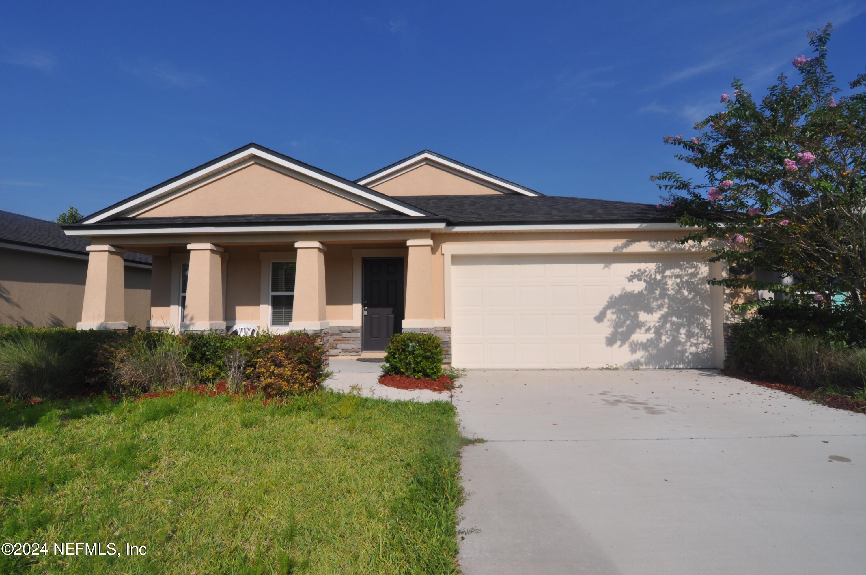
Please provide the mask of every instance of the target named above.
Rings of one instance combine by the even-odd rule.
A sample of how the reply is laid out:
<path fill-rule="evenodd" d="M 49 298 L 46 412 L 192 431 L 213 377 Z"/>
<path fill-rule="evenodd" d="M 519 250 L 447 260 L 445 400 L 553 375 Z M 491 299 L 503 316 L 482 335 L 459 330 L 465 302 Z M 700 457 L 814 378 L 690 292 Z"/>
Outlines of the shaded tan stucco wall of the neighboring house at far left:
<path fill-rule="evenodd" d="M 87 260 L 0 249 L 0 323 L 74 326 L 81 321 Z M 130 326 L 150 317 L 151 271 L 124 269 L 124 306 Z"/>

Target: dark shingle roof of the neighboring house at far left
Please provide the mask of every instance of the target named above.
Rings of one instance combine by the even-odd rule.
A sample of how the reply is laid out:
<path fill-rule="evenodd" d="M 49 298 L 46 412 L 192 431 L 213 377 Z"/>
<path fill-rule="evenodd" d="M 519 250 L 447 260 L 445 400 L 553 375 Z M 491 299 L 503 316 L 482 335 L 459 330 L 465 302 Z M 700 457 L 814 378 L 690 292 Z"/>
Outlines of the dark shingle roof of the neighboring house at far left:
<path fill-rule="evenodd" d="M 0 242 L 30 248 L 56 249 L 71 254 L 87 254 L 85 248 L 90 245 L 87 238 L 64 234 L 58 223 L 3 210 L 0 210 Z M 150 255 L 133 252 L 127 252 L 123 257 L 130 262 L 152 262 Z"/>

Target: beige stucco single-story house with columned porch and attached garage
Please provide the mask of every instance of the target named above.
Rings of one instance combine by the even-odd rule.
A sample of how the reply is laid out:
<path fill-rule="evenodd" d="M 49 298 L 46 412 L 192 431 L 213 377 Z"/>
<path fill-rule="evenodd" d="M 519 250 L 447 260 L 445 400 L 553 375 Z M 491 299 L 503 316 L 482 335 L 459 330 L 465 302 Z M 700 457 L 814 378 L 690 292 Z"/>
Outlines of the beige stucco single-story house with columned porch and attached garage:
<path fill-rule="evenodd" d="M 433 152 L 350 181 L 261 145 L 64 226 L 88 237 L 79 326 L 117 328 L 123 250 L 152 255 L 152 329 L 443 339 L 459 367 L 721 366 L 721 264 L 663 210 L 546 197 Z M 703 249 L 707 249 L 704 247 Z"/>

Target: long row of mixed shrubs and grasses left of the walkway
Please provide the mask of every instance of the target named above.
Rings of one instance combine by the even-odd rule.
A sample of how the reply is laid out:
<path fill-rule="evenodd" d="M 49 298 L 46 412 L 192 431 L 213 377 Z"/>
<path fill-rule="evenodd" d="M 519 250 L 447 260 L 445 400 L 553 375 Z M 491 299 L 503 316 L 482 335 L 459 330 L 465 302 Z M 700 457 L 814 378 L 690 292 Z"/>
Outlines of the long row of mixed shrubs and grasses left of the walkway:
<path fill-rule="evenodd" d="M 76 332 L 74 328 L 0 326 L 0 394 L 52 397 L 103 391 L 136 394 L 214 384 L 233 390 L 269 362 L 283 373 L 268 376 L 274 393 L 316 388 L 326 377 L 316 336 L 291 333 L 242 337 L 219 333 Z M 286 389 L 281 389 L 286 388 Z M 291 390 L 291 391 L 290 391 Z"/>

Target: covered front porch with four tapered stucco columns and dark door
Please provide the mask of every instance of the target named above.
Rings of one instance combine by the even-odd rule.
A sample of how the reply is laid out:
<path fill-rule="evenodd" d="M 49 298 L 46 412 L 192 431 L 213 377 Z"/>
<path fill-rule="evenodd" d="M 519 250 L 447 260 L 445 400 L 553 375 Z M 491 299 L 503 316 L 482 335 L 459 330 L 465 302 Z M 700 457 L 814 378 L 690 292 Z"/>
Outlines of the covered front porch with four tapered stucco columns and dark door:
<path fill-rule="evenodd" d="M 250 324 L 269 333 L 320 333 L 330 355 L 377 352 L 392 333 L 429 332 L 443 340 L 450 361 L 441 247 L 430 235 L 388 236 L 255 244 L 226 236 L 185 243 L 107 238 L 91 248 L 96 257 L 78 327 L 129 326 L 122 255 L 134 249 L 153 257 L 151 319 L 139 328 L 226 333 Z"/>

